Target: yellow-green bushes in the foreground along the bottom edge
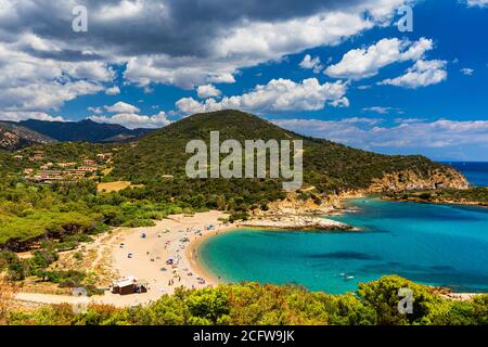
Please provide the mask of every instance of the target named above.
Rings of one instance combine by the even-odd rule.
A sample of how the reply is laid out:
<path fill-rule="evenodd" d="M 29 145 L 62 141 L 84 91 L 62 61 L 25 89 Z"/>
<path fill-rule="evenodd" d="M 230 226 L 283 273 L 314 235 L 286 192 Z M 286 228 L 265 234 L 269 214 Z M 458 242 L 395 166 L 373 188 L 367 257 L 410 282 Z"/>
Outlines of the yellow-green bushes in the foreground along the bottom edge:
<path fill-rule="evenodd" d="M 413 291 L 412 314 L 398 311 L 397 294 L 402 287 Z M 432 287 L 393 275 L 360 284 L 356 294 L 345 295 L 242 283 L 179 288 L 145 307 L 91 305 L 86 312 L 74 313 L 69 305 L 54 305 L 35 311 L 3 309 L 0 314 L 3 324 L 42 325 L 487 325 L 488 295 L 449 300 Z"/>

